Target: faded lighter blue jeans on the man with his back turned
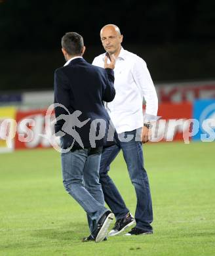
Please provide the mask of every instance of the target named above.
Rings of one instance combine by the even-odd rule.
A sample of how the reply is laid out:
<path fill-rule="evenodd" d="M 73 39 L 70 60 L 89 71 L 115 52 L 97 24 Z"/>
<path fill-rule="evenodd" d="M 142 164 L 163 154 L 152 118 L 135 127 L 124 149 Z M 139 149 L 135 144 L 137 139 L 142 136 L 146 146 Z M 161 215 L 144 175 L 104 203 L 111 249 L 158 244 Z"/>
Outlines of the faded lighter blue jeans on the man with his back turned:
<path fill-rule="evenodd" d="M 92 232 L 107 209 L 99 182 L 101 150 L 90 152 L 90 148 L 69 151 L 61 159 L 64 187 L 86 211 Z"/>

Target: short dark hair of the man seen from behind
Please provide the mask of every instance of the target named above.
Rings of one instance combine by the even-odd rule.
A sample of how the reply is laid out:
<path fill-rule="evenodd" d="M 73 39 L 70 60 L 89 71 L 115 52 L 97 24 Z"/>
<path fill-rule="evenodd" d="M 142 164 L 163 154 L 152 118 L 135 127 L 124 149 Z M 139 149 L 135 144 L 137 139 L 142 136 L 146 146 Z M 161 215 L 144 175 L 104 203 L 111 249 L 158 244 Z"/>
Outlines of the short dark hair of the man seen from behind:
<path fill-rule="evenodd" d="M 71 56 L 81 54 L 84 47 L 83 37 L 79 33 L 68 32 L 62 37 L 61 45 Z"/>

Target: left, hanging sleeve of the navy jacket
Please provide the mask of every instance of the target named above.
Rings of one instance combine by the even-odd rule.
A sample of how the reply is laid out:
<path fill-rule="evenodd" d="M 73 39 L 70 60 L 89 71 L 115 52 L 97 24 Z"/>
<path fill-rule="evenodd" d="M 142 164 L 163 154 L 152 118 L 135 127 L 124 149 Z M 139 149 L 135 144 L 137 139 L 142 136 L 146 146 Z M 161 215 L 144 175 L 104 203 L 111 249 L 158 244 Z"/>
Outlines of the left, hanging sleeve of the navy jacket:
<path fill-rule="evenodd" d="M 69 109 L 69 82 L 68 78 L 62 70 L 54 72 L 54 104 L 60 104 L 54 108 L 56 118 L 60 115 L 68 114 L 66 109 Z M 65 120 L 59 119 L 54 125 L 55 132 L 61 131 Z"/>

